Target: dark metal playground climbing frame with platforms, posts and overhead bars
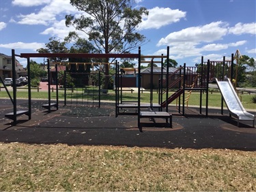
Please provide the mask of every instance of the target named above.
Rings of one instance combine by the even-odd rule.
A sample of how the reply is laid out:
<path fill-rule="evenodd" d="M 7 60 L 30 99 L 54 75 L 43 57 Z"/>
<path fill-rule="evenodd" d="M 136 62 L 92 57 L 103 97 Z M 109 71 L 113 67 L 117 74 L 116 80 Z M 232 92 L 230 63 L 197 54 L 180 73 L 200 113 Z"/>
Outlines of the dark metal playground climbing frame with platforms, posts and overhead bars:
<path fill-rule="evenodd" d="M 31 57 L 61 57 L 61 58 L 132 58 L 132 59 L 138 59 L 139 67 L 137 76 L 141 76 L 141 58 L 148 58 L 151 59 L 151 71 L 153 73 L 153 63 L 161 63 L 161 69 L 163 69 L 163 59 L 167 59 L 167 66 L 169 65 L 169 47 L 167 47 L 167 55 L 161 55 L 161 56 L 141 56 L 141 49 L 139 48 L 138 54 L 50 54 L 50 53 L 23 53 L 20 55 L 15 54 L 14 50 L 12 50 L 12 59 L 15 61 L 15 57 L 25 57 L 27 58 L 27 71 L 28 71 L 28 110 L 22 110 L 17 111 L 16 108 L 16 74 L 15 74 L 15 67 L 13 67 L 13 79 L 14 79 L 14 85 L 13 85 L 13 99 L 12 103 L 14 106 L 14 112 L 5 114 L 5 117 L 10 118 L 14 121 L 14 124 L 16 124 L 17 117 L 20 115 L 27 115 L 29 116 L 29 119 L 31 119 L 31 83 L 30 83 L 30 67 L 29 67 L 29 59 Z M 154 59 L 161 59 L 161 61 L 154 61 Z M 12 62 L 15 63 L 15 62 Z M 148 61 L 147 61 L 148 63 Z M 66 63 L 66 65 L 71 65 L 72 63 Z M 77 65 L 84 65 L 85 63 L 73 63 L 76 66 Z M 14 64 L 13 64 L 14 65 Z M 50 62 L 48 61 L 48 70 L 50 69 L 49 65 Z M 109 65 L 109 63 L 106 63 L 104 65 Z M 57 63 L 55 63 L 55 69 L 57 74 Z M 201 57 L 201 63 L 197 65 L 196 67 L 186 67 L 186 63 L 184 63 L 184 66 L 180 66 L 173 74 L 169 74 L 169 67 L 167 67 L 167 73 L 165 76 L 165 79 L 163 78 L 163 72 L 161 71 L 161 77 L 159 80 L 159 90 L 158 90 L 158 103 L 153 103 L 153 89 L 151 87 L 150 89 L 150 101 L 149 103 L 141 103 L 141 78 L 138 78 L 138 94 L 137 99 L 133 101 L 122 101 L 122 72 L 119 69 L 119 65 L 117 64 L 117 61 L 115 61 L 115 112 L 116 117 L 118 115 L 128 115 L 127 113 L 121 113 L 119 110 L 128 108 L 128 109 L 134 109 L 135 112 L 132 113 L 132 115 L 137 115 L 137 121 L 138 121 L 138 127 L 140 131 L 142 131 L 143 123 L 141 123 L 141 118 L 165 118 L 166 123 L 169 124 L 169 127 L 172 127 L 172 114 L 169 113 L 169 104 L 176 99 L 177 106 L 179 113 L 181 112 L 181 106 L 182 106 L 182 114 L 184 115 L 184 108 L 185 103 L 188 103 L 186 101 L 185 93 L 186 91 L 189 91 L 191 94 L 192 91 L 200 91 L 200 99 L 199 99 L 199 108 L 200 108 L 200 114 L 202 113 L 202 94 L 206 94 L 206 100 L 205 100 L 205 116 L 208 116 L 208 84 L 214 80 L 214 78 L 217 78 L 217 80 L 224 80 L 225 77 L 229 77 L 233 79 L 233 54 L 231 57 L 231 61 L 225 61 L 225 57 L 223 57 L 223 61 L 210 61 L 207 62 L 203 61 L 203 57 Z M 49 73 L 49 71 L 48 71 Z M 99 75 L 100 76 L 100 75 Z M 174 78 L 173 78 L 174 76 Z M 176 76 L 176 77 L 175 77 Z M 151 84 L 152 84 L 152 74 L 151 74 Z M 120 79 L 120 80 L 119 80 Z M 173 80 L 174 79 L 174 80 Z M 177 90 L 171 94 L 171 89 L 173 89 L 173 86 L 177 86 Z M 66 86 L 66 84 L 64 84 Z M 58 91 L 56 83 L 56 90 Z M 65 89 L 66 90 L 66 89 Z M 86 90 L 84 90 L 86 91 Z M 97 94 L 100 98 L 100 93 L 102 92 L 99 88 L 97 89 Z M 94 91 L 95 93 L 95 91 Z M 97 95 L 96 94 L 96 95 Z M 66 93 L 65 93 L 66 95 Z M 183 96 L 183 97 L 182 97 Z M 10 97 L 12 98 L 12 97 Z M 100 107 L 100 99 L 99 100 L 99 107 Z M 223 99 L 221 104 L 221 112 L 223 114 Z M 48 103 L 42 106 L 43 108 L 48 109 L 48 112 L 51 112 L 51 107 L 56 107 L 58 109 L 58 96 L 56 103 L 51 102 L 51 91 L 50 91 L 50 80 L 48 79 Z M 157 109 L 157 110 L 156 110 Z M 242 119 L 241 119 L 242 120 Z M 254 121 L 254 116 L 253 116 Z"/>

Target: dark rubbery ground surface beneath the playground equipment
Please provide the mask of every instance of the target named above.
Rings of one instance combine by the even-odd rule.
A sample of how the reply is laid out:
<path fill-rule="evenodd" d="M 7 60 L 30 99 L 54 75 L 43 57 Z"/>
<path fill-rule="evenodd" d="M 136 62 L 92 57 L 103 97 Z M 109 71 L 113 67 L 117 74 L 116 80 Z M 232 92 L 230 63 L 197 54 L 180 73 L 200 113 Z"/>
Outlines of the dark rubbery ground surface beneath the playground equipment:
<path fill-rule="evenodd" d="M 18 124 L 4 117 L 12 112 L 9 99 L 0 99 L 0 142 L 25 142 L 31 144 L 86 144 L 113 146 L 150 146 L 165 148 L 229 148 L 256 150 L 256 128 L 220 114 L 218 109 L 209 109 L 208 117 L 199 114 L 198 108 L 186 108 L 186 115 L 173 113 L 173 128 L 165 120 L 143 118 L 141 133 L 137 116 L 115 118 L 113 103 L 102 103 L 101 108 L 79 105 L 63 106 L 48 113 L 42 108 L 47 101 L 33 100 L 32 118 L 19 116 Z M 18 110 L 27 108 L 27 100 L 18 99 Z M 253 114 L 256 115 L 255 112 Z M 250 123 L 251 124 L 251 123 Z"/>

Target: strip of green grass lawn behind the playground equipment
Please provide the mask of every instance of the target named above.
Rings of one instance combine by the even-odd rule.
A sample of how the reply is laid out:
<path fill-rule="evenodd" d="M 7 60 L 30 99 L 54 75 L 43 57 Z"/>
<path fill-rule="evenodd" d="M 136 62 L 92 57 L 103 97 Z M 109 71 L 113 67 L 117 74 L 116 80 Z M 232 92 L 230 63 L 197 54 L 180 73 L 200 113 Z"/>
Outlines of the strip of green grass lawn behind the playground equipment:
<path fill-rule="evenodd" d="M 12 95 L 12 91 L 10 91 L 10 94 Z M 171 94 L 171 93 L 170 93 Z M 17 98 L 27 98 L 28 94 L 27 91 L 24 89 L 18 90 L 16 92 Z M 186 93 L 187 95 L 187 93 Z M 48 99 L 48 92 L 47 91 L 37 91 L 36 89 L 32 91 L 31 93 L 32 99 Z M 51 97 L 52 99 L 56 99 L 56 92 L 51 92 Z M 122 94 L 123 101 L 137 101 L 137 93 L 130 93 L 130 92 L 124 92 Z M 239 95 L 240 100 L 242 101 L 242 105 L 244 106 L 245 109 L 256 109 L 256 103 L 253 103 L 252 98 L 255 97 L 255 94 L 243 94 Z M 5 92 L 3 89 L 0 91 L 0 98 L 8 98 L 8 94 Z M 91 99 L 90 96 L 83 95 L 83 92 L 81 90 L 74 90 L 72 91 L 67 91 L 66 95 L 67 101 L 70 101 L 71 99 L 76 100 L 76 99 Z M 64 91 L 60 90 L 59 91 L 59 99 L 64 99 Z M 165 98 L 163 98 L 165 99 Z M 200 102 L 200 94 L 199 92 L 192 92 L 188 99 L 188 106 L 199 106 Z M 115 101 L 115 92 L 114 91 L 109 91 L 107 95 L 101 95 L 101 100 L 106 100 L 106 101 Z M 150 102 L 150 93 L 144 92 L 141 93 L 141 102 L 144 103 L 149 103 Z M 153 102 L 158 103 L 158 94 L 154 92 L 153 95 Z M 206 94 L 203 94 L 202 97 L 202 104 L 205 106 L 206 103 Z M 172 102 L 172 104 L 176 104 L 176 100 Z M 219 92 L 214 92 L 210 93 L 208 97 L 208 106 L 212 107 L 221 107 L 221 93 Z"/>

